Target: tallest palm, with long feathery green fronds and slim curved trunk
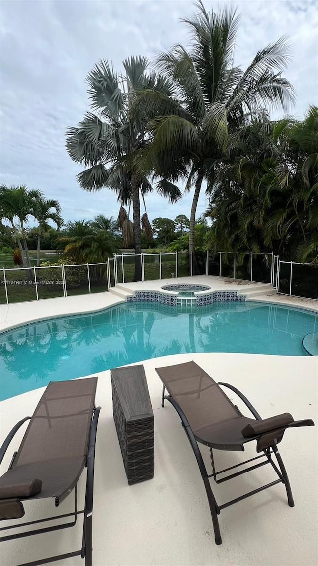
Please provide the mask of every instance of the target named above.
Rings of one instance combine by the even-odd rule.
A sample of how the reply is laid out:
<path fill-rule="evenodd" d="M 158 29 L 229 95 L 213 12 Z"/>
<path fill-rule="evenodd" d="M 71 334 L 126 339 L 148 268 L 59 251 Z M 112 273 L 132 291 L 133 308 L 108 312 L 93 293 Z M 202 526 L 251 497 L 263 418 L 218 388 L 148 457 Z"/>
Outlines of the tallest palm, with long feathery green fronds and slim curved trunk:
<path fill-rule="evenodd" d="M 190 49 L 175 45 L 161 53 L 156 68 L 173 80 L 174 96 L 155 88 L 137 93 L 139 112 L 149 122 L 150 141 L 140 168 L 195 187 L 190 216 L 189 250 L 194 252 L 197 201 L 204 179 L 207 192 L 224 157 L 229 133 L 239 130 L 261 108 L 284 110 L 294 102 L 291 84 L 281 76 L 289 60 L 286 38 L 261 49 L 245 71 L 233 66 L 239 18 L 231 8 L 199 13 L 183 20 L 190 28 Z"/>

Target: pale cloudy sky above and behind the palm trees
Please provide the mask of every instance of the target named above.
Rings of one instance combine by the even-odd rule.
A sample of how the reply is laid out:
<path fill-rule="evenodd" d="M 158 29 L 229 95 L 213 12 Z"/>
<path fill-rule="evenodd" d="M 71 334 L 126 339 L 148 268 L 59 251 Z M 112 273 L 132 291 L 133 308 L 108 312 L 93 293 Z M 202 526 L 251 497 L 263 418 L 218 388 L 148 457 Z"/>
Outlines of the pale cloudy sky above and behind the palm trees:
<path fill-rule="evenodd" d="M 243 68 L 258 49 L 282 35 L 290 37 L 293 61 L 286 76 L 294 84 L 294 113 L 302 118 L 317 104 L 318 2 L 316 0 L 235 0 L 241 15 L 235 64 Z M 80 167 L 65 150 L 65 130 L 89 108 L 85 77 L 101 58 L 121 70 L 132 54 L 152 59 L 158 50 L 187 45 L 181 18 L 193 14 L 192 0 L 1 0 L 0 182 L 26 184 L 59 200 L 66 221 L 97 213 L 117 216 L 115 196 L 104 189 L 84 192 L 76 182 Z M 148 215 L 190 215 L 191 194 L 169 205 L 147 199 Z M 205 209 L 201 196 L 198 215 Z"/>

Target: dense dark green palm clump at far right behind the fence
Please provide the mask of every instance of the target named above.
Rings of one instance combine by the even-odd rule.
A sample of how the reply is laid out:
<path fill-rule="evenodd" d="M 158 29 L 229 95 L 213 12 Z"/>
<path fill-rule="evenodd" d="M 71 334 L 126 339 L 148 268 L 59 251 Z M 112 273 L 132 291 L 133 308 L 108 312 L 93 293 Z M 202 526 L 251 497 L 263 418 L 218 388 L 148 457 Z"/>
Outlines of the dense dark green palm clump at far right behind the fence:
<path fill-rule="evenodd" d="M 230 136 L 208 212 L 218 247 L 317 261 L 317 123 L 310 107 L 303 122 L 264 117 Z"/>

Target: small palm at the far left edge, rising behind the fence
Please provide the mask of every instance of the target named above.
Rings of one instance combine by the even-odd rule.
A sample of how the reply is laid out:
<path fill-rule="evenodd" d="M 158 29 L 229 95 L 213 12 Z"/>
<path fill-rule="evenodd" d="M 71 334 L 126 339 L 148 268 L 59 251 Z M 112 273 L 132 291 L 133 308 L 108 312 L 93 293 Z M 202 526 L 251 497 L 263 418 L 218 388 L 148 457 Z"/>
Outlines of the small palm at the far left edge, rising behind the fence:
<path fill-rule="evenodd" d="M 28 217 L 32 215 L 35 202 L 41 198 L 44 198 L 41 191 L 30 190 L 25 185 L 0 186 L 1 215 L 3 219 L 10 222 L 14 230 L 14 239 L 18 243 L 24 267 L 31 267 L 26 224 Z"/>

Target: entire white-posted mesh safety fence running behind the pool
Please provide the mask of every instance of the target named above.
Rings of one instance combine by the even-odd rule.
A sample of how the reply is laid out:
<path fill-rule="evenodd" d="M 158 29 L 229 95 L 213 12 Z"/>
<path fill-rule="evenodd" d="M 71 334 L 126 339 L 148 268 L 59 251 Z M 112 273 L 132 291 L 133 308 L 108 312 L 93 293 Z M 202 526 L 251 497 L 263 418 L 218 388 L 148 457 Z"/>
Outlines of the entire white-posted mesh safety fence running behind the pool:
<path fill-rule="evenodd" d="M 318 299 L 318 267 L 251 252 L 115 254 L 104 263 L 0 269 L 0 304 L 108 291 L 118 284 L 192 275 L 268 283 L 279 293 Z"/>

